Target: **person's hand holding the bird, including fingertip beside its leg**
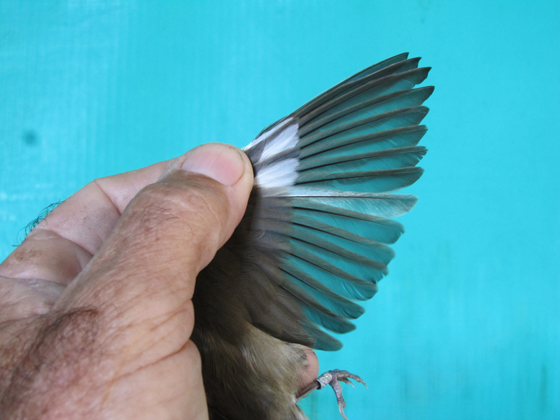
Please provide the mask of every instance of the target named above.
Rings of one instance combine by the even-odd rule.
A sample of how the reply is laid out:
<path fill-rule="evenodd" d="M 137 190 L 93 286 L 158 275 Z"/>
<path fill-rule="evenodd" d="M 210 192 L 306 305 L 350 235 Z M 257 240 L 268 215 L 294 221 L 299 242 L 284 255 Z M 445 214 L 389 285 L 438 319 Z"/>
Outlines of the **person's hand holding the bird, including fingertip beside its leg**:
<path fill-rule="evenodd" d="M 2 418 L 207 419 L 191 297 L 252 186 L 243 152 L 206 144 L 43 219 L 0 265 Z"/>

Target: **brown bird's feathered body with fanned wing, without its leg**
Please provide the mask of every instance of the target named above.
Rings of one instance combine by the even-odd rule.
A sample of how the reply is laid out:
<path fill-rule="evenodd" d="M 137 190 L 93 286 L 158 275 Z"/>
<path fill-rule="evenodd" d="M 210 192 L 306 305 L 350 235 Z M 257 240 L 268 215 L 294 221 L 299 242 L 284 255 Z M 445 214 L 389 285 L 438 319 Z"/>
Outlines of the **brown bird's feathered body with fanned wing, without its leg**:
<path fill-rule="evenodd" d="M 263 130 L 246 148 L 255 184 L 232 238 L 197 279 L 193 302 L 211 418 L 302 420 L 303 346 L 337 350 L 387 274 L 404 232 L 389 218 L 414 183 L 433 87 L 397 55 Z M 325 329 L 325 330 L 323 330 Z"/>

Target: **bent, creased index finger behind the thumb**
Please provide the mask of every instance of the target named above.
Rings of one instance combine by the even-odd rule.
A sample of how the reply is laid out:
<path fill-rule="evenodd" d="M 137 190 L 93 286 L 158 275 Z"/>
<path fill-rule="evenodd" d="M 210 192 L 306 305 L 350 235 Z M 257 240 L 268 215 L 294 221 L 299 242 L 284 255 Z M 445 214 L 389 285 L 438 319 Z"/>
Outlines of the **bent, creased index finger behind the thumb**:
<path fill-rule="evenodd" d="M 54 209 L 0 265 L 0 275 L 66 285 L 85 267 L 141 188 L 169 162 L 98 179 Z"/>

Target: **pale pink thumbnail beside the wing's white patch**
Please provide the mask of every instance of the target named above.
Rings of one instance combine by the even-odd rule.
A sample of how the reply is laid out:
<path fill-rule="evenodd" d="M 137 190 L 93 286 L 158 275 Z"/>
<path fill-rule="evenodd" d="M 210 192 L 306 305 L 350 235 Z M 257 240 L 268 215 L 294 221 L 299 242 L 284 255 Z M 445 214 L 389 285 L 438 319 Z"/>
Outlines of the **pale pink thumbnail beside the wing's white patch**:
<path fill-rule="evenodd" d="M 181 168 L 215 179 L 225 186 L 232 186 L 245 172 L 241 151 L 222 143 L 203 144 L 187 153 Z"/>

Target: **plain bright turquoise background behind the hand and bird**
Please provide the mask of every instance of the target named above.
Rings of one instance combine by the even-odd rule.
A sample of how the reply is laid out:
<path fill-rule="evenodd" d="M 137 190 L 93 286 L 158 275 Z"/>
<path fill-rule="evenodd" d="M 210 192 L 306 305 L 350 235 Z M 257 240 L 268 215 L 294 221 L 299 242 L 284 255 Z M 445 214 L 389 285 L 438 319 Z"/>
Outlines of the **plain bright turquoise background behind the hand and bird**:
<path fill-rule="evenodd" d="M 559 26 L 557 0 L 0 0 L 0 260 L 87 181 L 244 146 L 410 51 L 436 86 L 420 201 L 321 366 L 367 380 L 351 420 L 559 419 Z M 304 407 L 339 419 L 331 391 Z"/>

